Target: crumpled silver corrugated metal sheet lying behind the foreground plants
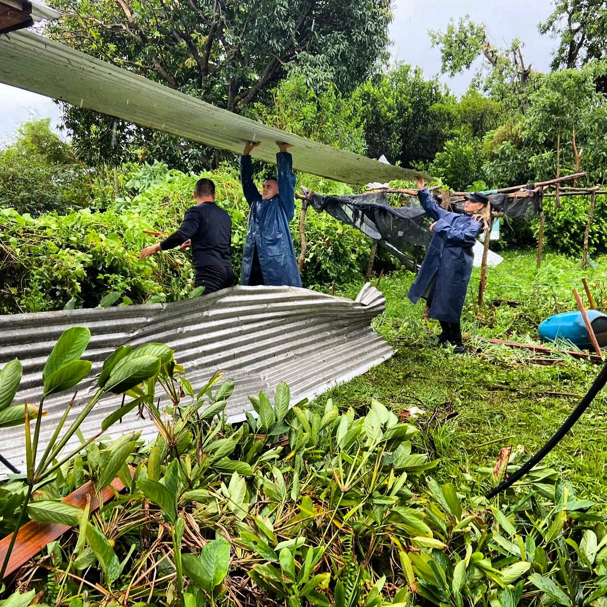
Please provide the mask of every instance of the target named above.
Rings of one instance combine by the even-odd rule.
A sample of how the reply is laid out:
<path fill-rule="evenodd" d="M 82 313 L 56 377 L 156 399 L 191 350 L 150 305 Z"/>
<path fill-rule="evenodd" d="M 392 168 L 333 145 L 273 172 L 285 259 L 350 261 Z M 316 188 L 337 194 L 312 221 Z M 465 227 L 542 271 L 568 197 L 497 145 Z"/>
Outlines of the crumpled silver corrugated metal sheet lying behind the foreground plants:
<path fill-rule="evenodd" d="M 95 393 L 101 365 L 115 348 L 163 342 L 175 350 L 195 389 L 217 370 L 236 382 L 227 412 L 231 421 L 239 421 L 252 410 L 249 395 L 260 390 L 273 394 L 280 381 L 290 385 L 297 402 L 390 358 L 392 348 L 370 328 L 384 305 L 384 296 L 367 283 L 355 301 L 295 287 L 232 287 L 166 305 L 0 316 L 0 366 L 13 358 L 22 362 L 16 402 L 35 404 L 42 393 L 42 368 L 56 340 L 68 327 L 89 327 L 91 339 L 83 358 L 93 361 L 92 379 L 78 385 L 75 417 Z M 45 401 L 42 444 L 70 398 L 68 392 Z M 97 433 L 120 402 L 109 396 L 98 403 L 83 424 L 84 436 Z M 137 412 L 110 434 L 132 430 L 141 430 L 144 438 L 156 434 L 154 425 L 138 419 Z M 2 430 L 2 455 L 20 469 L 23 444 L 23 427 Z"/>

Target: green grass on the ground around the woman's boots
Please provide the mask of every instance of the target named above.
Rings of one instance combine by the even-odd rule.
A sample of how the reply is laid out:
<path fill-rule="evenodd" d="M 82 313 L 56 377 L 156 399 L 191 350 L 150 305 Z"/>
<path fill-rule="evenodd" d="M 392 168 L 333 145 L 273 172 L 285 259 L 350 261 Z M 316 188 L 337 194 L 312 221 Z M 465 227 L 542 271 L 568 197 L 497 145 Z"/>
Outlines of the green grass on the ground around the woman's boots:
<path fill-rule="evenodd" d="M 373 396 L 395 412 L 423 409 L 426 415 L 418 424 L 424 430 L 421 440 L 426 444 L 422 447 L 443 459 L 439 475 L 444 480 L 475 477 L 478 467 L 493 466 L 504 445 L 535 453 L 577 405 L 599 365 L 563 356 L 554 366 L 543 366 L 535 364 L 535 355 L 524 350 L 481 342 L 475 351 L 472 340 L 478 336 L 537 341 L 541 320 L 575 309 L 571 289 L 583 292 L 583 276 L 601 307 L 607 299 L 607 271 L 600 265 L 582 271 L 578 260 L 554 254 L 544 257 L 541 269 L 536 270 L 534 251 L 509 252 L 504 257 L 501 265 L 489 269 L 489 305 L 476 306 L 478 268 L 470 280 L 462 320 L 471 353 L 464 356 L 432 347 L 438 323 L 422 320 L 423 304 L 414 306 L 407 299 L 413 274 L 384 277 L 380 289 L 387 306 L 375 328 L 395 347 L 395 356 L 339 385 L 320 401 L 332 397 L 341 406 L 366 407 Z M 360 287 L 350 285 L 338 294 L 355 296 Z M 516 299 L 520 305 L 492 307 L 493 299 Z M 603 484 L 606 412 L 606 395 L 599 395 L 546 459 L 561 470 L 580 497 L 596 500 L 603 509 L 607 509 L 607 486 Z"/>

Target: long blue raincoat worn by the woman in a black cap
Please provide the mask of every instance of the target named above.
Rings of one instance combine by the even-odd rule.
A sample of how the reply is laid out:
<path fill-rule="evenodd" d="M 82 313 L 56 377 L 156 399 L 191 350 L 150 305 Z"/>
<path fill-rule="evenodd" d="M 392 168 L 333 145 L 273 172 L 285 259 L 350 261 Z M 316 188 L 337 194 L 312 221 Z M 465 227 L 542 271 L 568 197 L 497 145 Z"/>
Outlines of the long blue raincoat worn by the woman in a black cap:
<path fill-rule="evenodd" d="M 427 296 L 436 277 L 429 316 L 444 322 L 458 322 L 472 273 L 472 247 L 482 225 L 472 215 L 445 211 L 436 204 L 428 188 L 418 192 L 418 198 L 436 224 L 426 257 L 407 295 L 416 304 L 420 297 Z"/>

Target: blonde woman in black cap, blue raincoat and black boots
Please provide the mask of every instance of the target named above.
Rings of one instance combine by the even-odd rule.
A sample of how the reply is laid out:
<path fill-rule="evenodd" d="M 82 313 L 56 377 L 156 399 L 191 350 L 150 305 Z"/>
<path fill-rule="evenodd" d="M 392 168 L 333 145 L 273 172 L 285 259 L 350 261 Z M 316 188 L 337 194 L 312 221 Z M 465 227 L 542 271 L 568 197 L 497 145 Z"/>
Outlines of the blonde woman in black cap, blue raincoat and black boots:
<path fill-rule="evenodd" d="M 472 273 L 472 247 L 489 225 L 489 198 L 480 192 L 469 194 L 463 214 L 452 213 L 436 204 L 423 179 L 416 181 L 419 202 L 435 221 L 426 257 L 407 295 L 414 304 L 426 299 L 430 318 L 439 320 L 443 329 L 439 344 L 450 343 L 454 352 L 463 354 L 461 311 Z"/>

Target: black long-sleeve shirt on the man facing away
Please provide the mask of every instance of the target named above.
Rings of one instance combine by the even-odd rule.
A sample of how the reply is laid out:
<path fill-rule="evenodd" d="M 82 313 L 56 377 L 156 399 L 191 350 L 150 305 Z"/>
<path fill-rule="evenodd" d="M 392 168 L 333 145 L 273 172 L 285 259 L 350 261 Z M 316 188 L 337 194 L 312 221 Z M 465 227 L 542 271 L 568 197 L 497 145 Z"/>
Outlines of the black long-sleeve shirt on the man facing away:
<path fill-rule="evenodd" d="M 214 202 L 203 202 L 186 211 L 177 231 L 160 243 L 163 251 L 192 241 L 194 268 L 203 266 L 231 266 L 230 245 L 232 221 Z"/>

